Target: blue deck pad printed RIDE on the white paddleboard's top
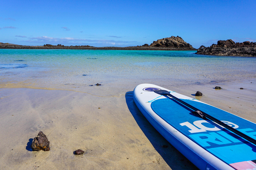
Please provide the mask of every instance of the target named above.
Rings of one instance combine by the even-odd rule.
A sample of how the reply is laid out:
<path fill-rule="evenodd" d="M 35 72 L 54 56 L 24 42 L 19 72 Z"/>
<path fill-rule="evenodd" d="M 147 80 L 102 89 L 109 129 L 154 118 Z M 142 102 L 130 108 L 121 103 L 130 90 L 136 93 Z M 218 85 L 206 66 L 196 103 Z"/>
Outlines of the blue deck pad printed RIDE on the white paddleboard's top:
<path fill-rule="evenodd" d="M 256 139 L 256 124 L 197 100 L 184 102 Z M 212 121 L 192 114 L 193 110 L 174 99 L 155 100 L 151 108 L 168 124 L 228 164 L 256 159 L 254 144 Z"/>

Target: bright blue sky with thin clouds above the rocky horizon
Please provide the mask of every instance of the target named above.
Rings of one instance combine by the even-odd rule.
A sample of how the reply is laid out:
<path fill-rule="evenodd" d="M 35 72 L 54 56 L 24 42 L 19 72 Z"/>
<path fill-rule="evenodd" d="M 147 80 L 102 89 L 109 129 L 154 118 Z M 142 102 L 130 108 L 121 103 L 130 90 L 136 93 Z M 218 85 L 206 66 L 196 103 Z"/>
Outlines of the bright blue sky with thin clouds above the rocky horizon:
<path fill-rule="evenodd" d="M 171 36 L 195 48 L 256 42 L 256 0 L 0 1 L 0 42 L 137 46 Z"/>

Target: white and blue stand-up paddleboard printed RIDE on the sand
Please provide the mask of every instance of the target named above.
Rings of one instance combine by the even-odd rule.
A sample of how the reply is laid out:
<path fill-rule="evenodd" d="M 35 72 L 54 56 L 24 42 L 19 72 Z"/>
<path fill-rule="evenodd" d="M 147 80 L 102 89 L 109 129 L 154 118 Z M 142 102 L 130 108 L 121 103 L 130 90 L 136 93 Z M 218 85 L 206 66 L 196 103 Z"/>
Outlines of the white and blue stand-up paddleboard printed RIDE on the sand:
<path fill-rule="evenodd" d="M 157 94 L 155 90 L 167 90 L 173 97 Z M 256 170 L 256 124 L 153 84 L 138 85 L 133 98 L 153 127 L 199 169 Z M 189 106 L 235 130 L 194 114 Z"/>

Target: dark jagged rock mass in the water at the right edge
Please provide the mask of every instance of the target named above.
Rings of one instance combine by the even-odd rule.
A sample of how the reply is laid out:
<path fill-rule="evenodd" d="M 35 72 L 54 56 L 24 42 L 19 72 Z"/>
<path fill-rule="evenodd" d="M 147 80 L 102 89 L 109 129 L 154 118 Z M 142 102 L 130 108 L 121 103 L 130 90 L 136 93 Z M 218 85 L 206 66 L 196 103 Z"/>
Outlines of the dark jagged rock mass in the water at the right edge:
<path fill-rule="evenodd" d="M 219 40 L 217 44 L 212 44 L 210 47 L 201 45 L 196 54 L 256 56 L 256 42 L 234 42 L 232 40 Z"/>

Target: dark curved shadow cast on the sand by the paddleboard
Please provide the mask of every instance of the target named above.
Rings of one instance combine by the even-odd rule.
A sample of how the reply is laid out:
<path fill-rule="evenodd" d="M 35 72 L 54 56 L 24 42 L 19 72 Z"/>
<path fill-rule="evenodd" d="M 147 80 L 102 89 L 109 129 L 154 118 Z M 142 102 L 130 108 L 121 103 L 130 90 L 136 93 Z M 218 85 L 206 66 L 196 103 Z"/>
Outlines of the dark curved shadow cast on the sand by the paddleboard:
<path fill-rule="evenodd" d="M 127 92 L 125 99 L 134 120 L 172 170 L 198 169 L 147 121 L 133 101 L 133 91 Z"/>

